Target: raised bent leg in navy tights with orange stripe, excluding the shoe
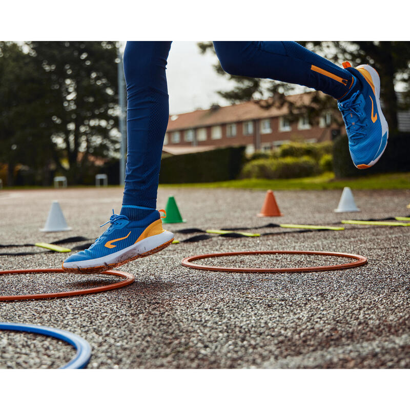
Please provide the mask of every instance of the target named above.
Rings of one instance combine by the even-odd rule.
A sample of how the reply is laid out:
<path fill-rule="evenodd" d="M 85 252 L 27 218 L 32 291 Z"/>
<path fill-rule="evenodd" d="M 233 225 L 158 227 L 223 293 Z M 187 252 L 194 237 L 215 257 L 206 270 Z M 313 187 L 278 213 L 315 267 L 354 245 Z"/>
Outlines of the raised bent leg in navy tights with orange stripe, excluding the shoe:
<path fill-rule="evenodd" d="M 359 84 L 331 61 L 295 42 L 214 42 L 222 68 L 232 75 L 271 78 L 346 98 Z"/>

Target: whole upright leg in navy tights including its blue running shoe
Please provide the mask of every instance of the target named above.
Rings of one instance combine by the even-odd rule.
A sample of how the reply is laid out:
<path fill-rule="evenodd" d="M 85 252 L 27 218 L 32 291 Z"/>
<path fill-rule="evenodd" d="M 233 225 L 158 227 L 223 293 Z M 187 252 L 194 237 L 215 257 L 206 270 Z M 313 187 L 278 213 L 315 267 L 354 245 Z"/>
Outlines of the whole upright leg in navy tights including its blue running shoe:
<path fill-rule="evenodd" d="M 162 228 L 156 211 L 162 144 L 168 125 L 165 68 L 170 47 L 171 42 L 127 43 L 128 153 L 121 213 L 111 215 L 109 228 L 89 249 L 63 262 L 67 272 L 104 272 L 172 243 L 174 234 Z"/>

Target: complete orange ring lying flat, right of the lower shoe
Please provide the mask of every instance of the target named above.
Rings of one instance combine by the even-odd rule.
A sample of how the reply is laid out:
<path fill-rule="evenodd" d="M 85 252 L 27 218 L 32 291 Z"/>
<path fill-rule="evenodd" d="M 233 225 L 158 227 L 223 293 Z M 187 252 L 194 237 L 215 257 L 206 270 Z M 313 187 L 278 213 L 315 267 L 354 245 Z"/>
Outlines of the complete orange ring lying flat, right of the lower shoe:
<path fill-rule="evenodd" d="M 343 263 L 341 265 L 314 266 L 309 268 L 227 268 L 220 266 L 197 265 L 192 263 L 193 260 L 216 258 L 220 256 L 237 256 L 237 255 L 267 255 L 267 254 L 285 254 L 285 255 L 322 255 L 338 256 L 342 258 L 355 259 L 355 262 Z M 182 265 L 193 269 L 202 269 L 204 271 L 217 272 L 244 272 L 244 273 L 283 273 L 283 272 L 315 272 L 315 271 L 334 271 L 337 269 L 356 268 L 367 263 L 367 258 L 361 255 L 353 255 L 340 252 L 318 252 L 318 251 L 246 251 L 246 252 L 224 252 L 210 253 L 206 255 L 190 256 L 182 259 Z"/>

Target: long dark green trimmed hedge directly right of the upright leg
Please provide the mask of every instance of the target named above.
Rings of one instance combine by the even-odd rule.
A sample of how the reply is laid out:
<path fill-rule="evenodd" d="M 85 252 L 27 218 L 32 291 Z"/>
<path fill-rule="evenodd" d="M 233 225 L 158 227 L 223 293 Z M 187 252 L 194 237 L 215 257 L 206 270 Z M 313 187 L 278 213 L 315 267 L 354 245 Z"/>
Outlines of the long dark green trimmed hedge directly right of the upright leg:
<path fill-rule="evenodd" d="M 218 148 L 162 158 L 159 183 L 214 182 L 236 179 L 245 147 Z"/>

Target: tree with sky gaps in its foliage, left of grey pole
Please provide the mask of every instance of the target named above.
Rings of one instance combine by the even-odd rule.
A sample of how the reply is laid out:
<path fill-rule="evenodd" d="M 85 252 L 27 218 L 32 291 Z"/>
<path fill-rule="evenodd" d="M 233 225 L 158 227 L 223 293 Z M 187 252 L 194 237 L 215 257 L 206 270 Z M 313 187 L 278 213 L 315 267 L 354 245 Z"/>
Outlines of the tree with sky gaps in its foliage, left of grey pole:
<path fill-rule="evenodd" d="M 119 149 L 117 49 L 114 42 L 30 42 L 46 90 L 44 120 L 57 169 L 83 182 L 90 155 Z M 68 169 L 65 161 L 68 161 Z"/>

